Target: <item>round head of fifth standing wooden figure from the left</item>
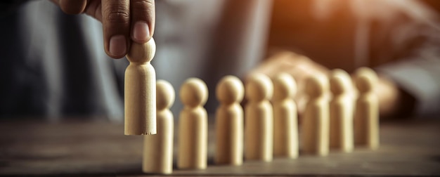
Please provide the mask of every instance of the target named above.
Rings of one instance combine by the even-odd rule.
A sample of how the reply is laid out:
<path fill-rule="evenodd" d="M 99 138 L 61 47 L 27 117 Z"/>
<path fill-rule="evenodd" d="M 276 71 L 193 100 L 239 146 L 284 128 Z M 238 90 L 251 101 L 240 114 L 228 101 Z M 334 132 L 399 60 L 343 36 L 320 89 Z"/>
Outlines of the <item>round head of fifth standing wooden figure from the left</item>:
<path fill-rule="evenodd" d="M 297 83 L 292 75 L 281 73 L 273 78 L 273 100 L 293 98 L 296 93 Z"/>

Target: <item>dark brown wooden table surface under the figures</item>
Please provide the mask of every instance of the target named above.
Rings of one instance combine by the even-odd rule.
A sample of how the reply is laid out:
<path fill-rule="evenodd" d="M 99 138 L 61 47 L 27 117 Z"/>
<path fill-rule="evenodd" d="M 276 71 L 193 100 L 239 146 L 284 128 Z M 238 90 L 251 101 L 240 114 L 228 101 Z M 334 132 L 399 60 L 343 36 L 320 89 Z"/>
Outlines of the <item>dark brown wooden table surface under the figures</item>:
<path fill-rule="evenodd" d="M 105 121 L 0 121 L 0 175 L 146 176 L 142 136 L 124 136 L 123 124 Z M 328 157 L 212 164 L 214 126 L 209 124 L 206 170 L 174 168 L 176 176 L 364 176 L 439 175 L 440 119 L 382 122 L 378 150 L 332 151 Z M 176 137 L 176 136 L 175 136 Z M 177 145 L 178 140 L 175 140 Z M 176 148 L 175 148 L 176 150 Z M 176 152 L 176 151 L 175 151 Z M 176 154 L 176 153 L 175 153 Z M 174 159 L 176 162 L 176 159 Z M 174 165 L 175 166 L 175 165 Z"/>

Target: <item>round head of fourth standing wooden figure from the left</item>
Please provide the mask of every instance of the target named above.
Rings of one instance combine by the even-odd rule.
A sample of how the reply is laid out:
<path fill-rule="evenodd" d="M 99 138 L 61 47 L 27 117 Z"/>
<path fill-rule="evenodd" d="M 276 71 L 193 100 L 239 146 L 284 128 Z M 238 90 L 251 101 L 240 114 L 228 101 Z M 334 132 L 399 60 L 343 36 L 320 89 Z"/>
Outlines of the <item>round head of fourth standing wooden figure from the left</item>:
<path fill-rule="evenodd" d="M 246 83 L 246 98 L 253 101 L 271 99 L 273 84 L 271 79 L 264 74 L 253 74 Z"/>

